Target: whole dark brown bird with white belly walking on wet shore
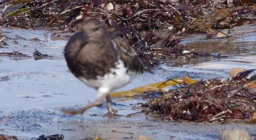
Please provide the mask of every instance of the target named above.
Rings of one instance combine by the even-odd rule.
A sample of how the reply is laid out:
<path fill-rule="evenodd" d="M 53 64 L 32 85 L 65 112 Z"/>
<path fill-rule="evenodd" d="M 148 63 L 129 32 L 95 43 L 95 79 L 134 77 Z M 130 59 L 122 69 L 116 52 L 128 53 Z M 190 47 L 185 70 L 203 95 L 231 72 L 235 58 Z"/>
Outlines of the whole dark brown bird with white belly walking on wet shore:
<path fill-rule="evenodd" d="M 70 72 L 98 92 L 94 102 L 78 110 L 64 109 L 66 114 L 83 114 L 104 98 L 108 114 L 114 114 L 108 93 L 130 83 L 136 75 L 150 72 L 128 41 L 107 32 L 98 19 L 83 22 L 81 31 L 68 40 L 64 56 Z"/>

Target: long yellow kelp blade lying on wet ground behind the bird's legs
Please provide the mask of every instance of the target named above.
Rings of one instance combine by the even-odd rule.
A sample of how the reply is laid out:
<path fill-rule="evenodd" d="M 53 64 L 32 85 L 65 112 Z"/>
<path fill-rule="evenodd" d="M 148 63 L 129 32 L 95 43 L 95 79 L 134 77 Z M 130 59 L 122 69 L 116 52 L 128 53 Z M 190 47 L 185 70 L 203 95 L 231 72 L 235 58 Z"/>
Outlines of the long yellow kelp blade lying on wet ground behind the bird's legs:
<path fill-rule="evenodd" d="M 162 88 L 166 88 L 168 86 L 174 86 L 177 84 L 195 84 L 196 82 L 198 82 L 198 80 L 193 80 L 190 79 L 188 76 L 186 76 L 185 79 L 172 79 L 172 80 L 166 80 L 166 81 L 162 81 L 162 82 L 157 82 L 154 84 L 147 84 L 144 86 L 140 86 L 138 88 L 134 88 L 132 90 L 127 90 L 127 91 L 120 91 L 120 92 L 111 92 L 109 93 L 109 95 L 111 97 L 122 97 L 122 96 L 135 96 L 139 93 L 143 93 L 146 91 L 156 91 L 156 90 L 160 90 Z"/>

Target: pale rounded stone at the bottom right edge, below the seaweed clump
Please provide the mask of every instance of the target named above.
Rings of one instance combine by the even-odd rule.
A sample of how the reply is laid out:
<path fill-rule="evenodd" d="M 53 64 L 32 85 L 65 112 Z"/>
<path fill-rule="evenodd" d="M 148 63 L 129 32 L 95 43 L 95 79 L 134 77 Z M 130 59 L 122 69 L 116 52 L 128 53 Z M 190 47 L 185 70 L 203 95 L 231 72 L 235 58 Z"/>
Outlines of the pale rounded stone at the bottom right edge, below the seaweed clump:
<path fill-rule="evenodd" d="M 224 130 L 220 134 L 220 140 L 250 140 L 248 132 L 241 129 Z"/>

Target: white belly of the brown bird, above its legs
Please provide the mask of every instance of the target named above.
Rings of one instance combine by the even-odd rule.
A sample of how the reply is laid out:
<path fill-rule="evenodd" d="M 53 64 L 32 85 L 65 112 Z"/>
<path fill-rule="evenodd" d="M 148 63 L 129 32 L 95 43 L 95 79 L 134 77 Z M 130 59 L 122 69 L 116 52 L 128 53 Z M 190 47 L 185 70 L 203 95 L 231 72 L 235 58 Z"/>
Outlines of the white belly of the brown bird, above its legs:
<path fill-rule="evenodd" d="M 124 63 L 121 60 L 118 60 L 116 68 L 113 68 L 110 71 L 109 74 L 106 74 L 103 77 L 98 76 L 97 80 L 86 80 L 83 77 L 79 79 L 87 86 L 108 88 L 109 92 L 112 92 L 130 83 L 136 76 L 135 72 L 126 72 L 127 68 L 124 67 Z"/>

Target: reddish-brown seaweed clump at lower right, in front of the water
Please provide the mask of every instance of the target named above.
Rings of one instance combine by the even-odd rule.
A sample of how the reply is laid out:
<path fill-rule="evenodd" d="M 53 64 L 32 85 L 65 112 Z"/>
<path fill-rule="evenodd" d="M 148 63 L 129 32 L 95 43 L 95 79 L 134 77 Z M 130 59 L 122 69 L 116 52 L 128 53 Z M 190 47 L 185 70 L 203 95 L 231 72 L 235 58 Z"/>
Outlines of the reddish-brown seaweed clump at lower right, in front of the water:
<path fill-rule="evenodd" d="M 239 72 L 233 79 L 214 78 L 167 92 L 145 92 L 146 114 L 158 120 L 193 122 L 247 122 L 256 112 L 255 69 Z M 157 94 L 157 96 L 154 96 Z"/>

